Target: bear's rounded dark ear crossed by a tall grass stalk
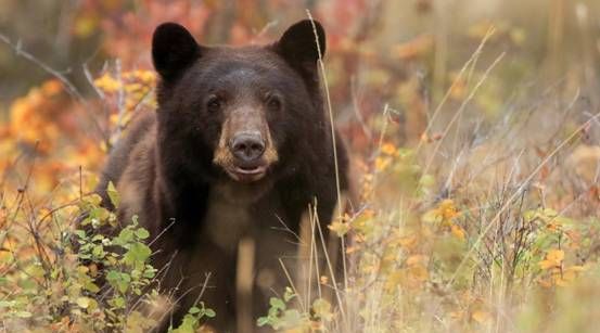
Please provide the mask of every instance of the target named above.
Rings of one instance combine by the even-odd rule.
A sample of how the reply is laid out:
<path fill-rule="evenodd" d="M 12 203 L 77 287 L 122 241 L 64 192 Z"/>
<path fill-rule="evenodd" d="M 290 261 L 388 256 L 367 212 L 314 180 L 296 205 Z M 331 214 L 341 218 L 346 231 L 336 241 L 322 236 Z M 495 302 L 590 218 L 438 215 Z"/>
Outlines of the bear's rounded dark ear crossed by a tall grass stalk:
<path fill-rule="evenodd" d="M 289 27 L 275 47 L 294 68 L 316 75 L 317 61 L 325 54 L 325 31 L 318 21 L 303 20 Z"/>

